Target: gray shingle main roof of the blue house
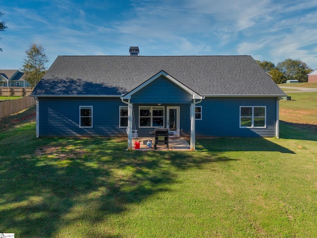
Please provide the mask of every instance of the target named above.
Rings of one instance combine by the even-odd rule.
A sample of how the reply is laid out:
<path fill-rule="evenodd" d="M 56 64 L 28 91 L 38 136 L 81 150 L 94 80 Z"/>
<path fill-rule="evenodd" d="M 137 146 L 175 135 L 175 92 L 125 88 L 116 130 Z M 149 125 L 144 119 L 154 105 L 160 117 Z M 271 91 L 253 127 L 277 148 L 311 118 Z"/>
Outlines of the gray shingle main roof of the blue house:
<path fill-rule="evenodd" d="M 32 95 L 120 95 L 164 70 L 202 96 L 284 96 L 251 56 L 58 56 Z"/>

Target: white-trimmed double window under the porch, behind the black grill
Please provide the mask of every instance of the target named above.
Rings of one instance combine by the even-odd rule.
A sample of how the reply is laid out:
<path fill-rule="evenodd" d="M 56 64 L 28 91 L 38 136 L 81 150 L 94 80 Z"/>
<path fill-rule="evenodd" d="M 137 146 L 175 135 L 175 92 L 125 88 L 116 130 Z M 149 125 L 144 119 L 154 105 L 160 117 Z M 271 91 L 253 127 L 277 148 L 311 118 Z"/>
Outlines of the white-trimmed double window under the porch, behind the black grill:
<path fill-rule="evenodd" d="M 164 127 L 164 107 L 139 107 L 139 127 Z"/>

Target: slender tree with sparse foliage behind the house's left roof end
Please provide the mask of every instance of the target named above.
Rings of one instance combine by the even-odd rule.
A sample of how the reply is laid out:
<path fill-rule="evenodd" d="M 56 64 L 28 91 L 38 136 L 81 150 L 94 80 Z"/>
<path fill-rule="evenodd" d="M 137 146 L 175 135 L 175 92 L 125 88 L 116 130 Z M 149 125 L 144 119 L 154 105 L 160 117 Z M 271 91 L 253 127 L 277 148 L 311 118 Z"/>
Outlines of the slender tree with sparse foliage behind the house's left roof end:
<path fill-rule="evenodd" d="M 46 64 L 50 62 L 49 58 L 44 53 L 44 48 L 41 45 L 33 43 L 30 48 L 25 51 L 27 57 L 23 60 L 22 71 L 24 78 L 32 87 L 35 87 L 46 73 Z"/>

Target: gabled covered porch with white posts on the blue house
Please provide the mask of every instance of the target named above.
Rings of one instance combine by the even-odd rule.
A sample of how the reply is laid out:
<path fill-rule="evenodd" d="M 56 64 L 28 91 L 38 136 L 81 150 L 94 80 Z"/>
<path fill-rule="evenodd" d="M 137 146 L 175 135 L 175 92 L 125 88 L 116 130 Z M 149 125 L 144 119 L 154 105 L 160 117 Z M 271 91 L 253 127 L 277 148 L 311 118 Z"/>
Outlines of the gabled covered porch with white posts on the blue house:
<path fill-rule="evenodd" d="M 149 133 L 155 128 L 171 129 L 171 115 L 174 115 L 174 124 L 176 125 L 175 138 L 170 138 L 170 149 L 184 149 L 195 150 L 195 107 L 201 103 L 205 97 L 197 94 L 187 86 L 181 84 L 179 81 L 168 75 L 164 71 L 160 71 L 143 84 L 133 89 L 129 93 L 122 95 L 121 101 L 127 105 L 127 134 L 128 134 L 128 149 L 134 149 L 135 141 L 132 138 L 132 130 L 139 130 L 142 135 L 146 135 L 145 131 Z M 133 107 L 136 105 L 138 114 L 133 113 Z M 186 106 L 184 106 L 186 105 Z M 185 108 L 182 108 L 185 107 Z M 182 110 L 181 110 L 182 108 Z M 187 111 L 188 110 L 188 111 Z M 184 123 L 179 125 L 180 111 L 188 112 L 186 123 L 189 123 L 187 134 L 190 135 L 190 144 L 180 136 L 180 131 Z M 153 113 L 155 112 L 155 114 Z M 137 115 L 137 128 L 133 127 L 134 115 Z M 184 116 L 184 114 L 183 114 Z M 184 119 L 182 117 L 182 119 Z M 188 120 L 189 119 L 189 120 Z M 187 125 L 186 125 L 187 126 Z M 175 131 L 174 131 L 175 132 Z M 140 133 L 139 133 L 140 134 Z M 178 137 L 178 138 L 177 138 Z M 150 139 L 151 136 L 150 136 Z M 137 139 L 141 141 L 142 147 L 146 139 Z M 154 143 L 154 139 L 153 143 Z M 180 143 L 182 142 L 182 143 Z M 186 142 L 186 143 L 185 143 Z M 140 148 L 142 148 L 140 147 Z M 158 146 L 162 149 L 163 146 Z M 148 149 L 145 147 L 144 149 Z M 167 149 L 165 147 L 165 149 Z"/>

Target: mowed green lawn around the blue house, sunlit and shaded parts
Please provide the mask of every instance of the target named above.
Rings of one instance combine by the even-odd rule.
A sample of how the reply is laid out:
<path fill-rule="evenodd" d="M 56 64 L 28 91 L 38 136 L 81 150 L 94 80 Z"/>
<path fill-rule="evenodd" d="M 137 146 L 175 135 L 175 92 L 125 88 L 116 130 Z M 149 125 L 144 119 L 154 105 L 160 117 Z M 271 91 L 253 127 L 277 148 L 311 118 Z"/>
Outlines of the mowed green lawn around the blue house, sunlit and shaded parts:
<path fill-rule="evenodd" d="M 36 139 L 35 122 L 18 120 L 0 128 L 3 233 L 317 237 L 311 130 L 281 122 L 281 139 L 201 138 L 196 152 L 126 152 L 126 138 Z"/>

